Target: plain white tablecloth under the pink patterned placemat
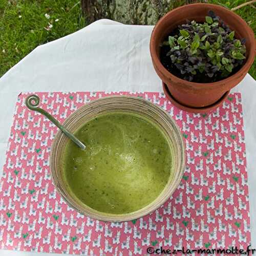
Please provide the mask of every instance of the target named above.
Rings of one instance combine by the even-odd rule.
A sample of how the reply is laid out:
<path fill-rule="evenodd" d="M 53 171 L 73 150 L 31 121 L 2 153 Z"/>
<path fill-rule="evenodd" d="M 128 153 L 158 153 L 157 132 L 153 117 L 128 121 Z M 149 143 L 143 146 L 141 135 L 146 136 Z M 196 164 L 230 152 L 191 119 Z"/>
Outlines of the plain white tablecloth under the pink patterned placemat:
<path fill-rule="evenodd" d="M 19 92 L 162 92 L 149 50 L 152 29 L 153 26 L 123 25 L 101 19 L 71 35 L 37 47 L 10 69 L 0 79 L 1 173 Z M 252 248 L 256 248 L 256 81 L 247 74 L 232 91 L 242 93 L 251 237 Z M 0 254 L 32 256 L 38 253 L 0 250 Z"/>

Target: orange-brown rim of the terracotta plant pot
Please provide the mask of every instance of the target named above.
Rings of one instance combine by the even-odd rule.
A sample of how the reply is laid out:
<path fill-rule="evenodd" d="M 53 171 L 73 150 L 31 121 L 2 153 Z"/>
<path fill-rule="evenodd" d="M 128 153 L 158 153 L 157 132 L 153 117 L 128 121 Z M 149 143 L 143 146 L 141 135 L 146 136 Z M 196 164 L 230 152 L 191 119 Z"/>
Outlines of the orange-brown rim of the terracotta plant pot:
<path fill-rule="evenodd" d="M 220 81 L 217 82 L 209 82 L 209 83 L 198 83 L 198 82 L 190 82 L 184 79 L 181 79 L 175 75 L 173 75 L 172 73 L 170 73 L 161 63 L 157 52 L 156 52 L 156 40 L 155 40 L 155 34 L 156 31 L 159 29 L 160 24 L 163 22 L 164 19 L 166 19 L 169 16 L 172 16 L 174 12 L 182 12 L 182 9 L 191 9 L 191 8 L 198 8 L 198 7 L 202 7 L 205 6 L 206 8 L 211 8 L 212 10 L 223 10 L 225 12 L 227 12 L 227 15 L 230 16 L 230 19 L 238 19 L 239 22 L 241 24 L 243 24 L 246 27 L 246 30 L 249 34 L 249 37 L 246 38 L 247 40 L 249 40 L 250 44 L 251 44 L 251 48 L 250 51 L 248 52 L 248 57 L 244 63 L 244 65 L 241 67 L 241 69 L 234 73 L 233 75 L 222 79 Z M 229 23 L 230 24 L 230 23 Z M 229 24 L 227 24 L 229 26 Z M 235 31 L 236 32 L 236 31 Z M 169 77 L 170 80 L 175 80 L 177 83 L 185 83 L 187 86 L 193 87 L 195 89 L 200 89 L 202 88 L 202 85 L 207 86 L 210 88 L 216 87 L 216 86 L 222 86 L 223 84 L 230 82 L 230 80 L 236 80 L 239 77 L 243 76 L 244 73 L 248 72 L 249 68 L 251 67 L 253 61 L 254 61 L 254 50 L 255 50 L 255 43 L 254 43 L 254 33 L 252 31 L 252 29 L 247 25 L 247 23 L 245 22 L 245 20 L 243 18 L 241 18 L 238 14 L 230 11 L 229 9 L 219 6 L 219 5 L 214 5 L 214 4 L 203 4 L 203 3 L 197 3 L 197 4 L 189 4 L 189 5 L 184 5 L 178 8 L 175 8 L 172 11 L 167 12 L 163 17 L 161 17 L 157 24 L 155 25 L 152 34 L 151 34 L 151 38 L 150 38 L 150 53 L 151 53 L 151 58 L 154 62 L 154 66 L 156 66 L 156 68 L 159 70 L 159 72 L 162 73 L 163 76 L 165 77 Z M 248 51 L 248 50 L 247 50 Z"/>

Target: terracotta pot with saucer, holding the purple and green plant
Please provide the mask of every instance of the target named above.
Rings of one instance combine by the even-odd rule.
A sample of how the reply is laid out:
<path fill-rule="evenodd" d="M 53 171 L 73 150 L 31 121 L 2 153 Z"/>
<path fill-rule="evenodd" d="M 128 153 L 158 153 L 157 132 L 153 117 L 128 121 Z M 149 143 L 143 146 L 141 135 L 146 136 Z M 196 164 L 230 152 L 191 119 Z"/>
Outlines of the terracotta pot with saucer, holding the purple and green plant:
<path fill-rule="evenodd" d="M 186 19 L 203 22 L 208 11 L 212 10 L 223 22 L 235 31 L 236 38 L 246 38 L 246 59 L 243 67 L 235 74 L 218 82 L 196 83 L 178 78 L 164 68 L 160 62 L 160 43 Z M 247 23 L 236 13 L 218 5 L 191 4 L 179 7 L 165 14 L 156 24 L 150 40 L 150 52 L 158 76 L 167 85 L 169 93 L 180 105 L 202 108 L 215 104 L 246 75 L 254 60 L 254 34 Z M 225 98 L 225 97 L 224 97 Z"/>

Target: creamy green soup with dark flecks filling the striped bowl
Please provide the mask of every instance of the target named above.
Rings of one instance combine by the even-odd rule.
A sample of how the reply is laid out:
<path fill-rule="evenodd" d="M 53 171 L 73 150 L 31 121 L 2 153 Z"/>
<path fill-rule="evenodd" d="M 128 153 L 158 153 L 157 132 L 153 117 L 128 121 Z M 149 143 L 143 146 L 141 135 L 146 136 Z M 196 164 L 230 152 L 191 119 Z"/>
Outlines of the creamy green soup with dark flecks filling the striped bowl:
<path fill-rule="evenodd" d="M 99 115 L 69 141 L 63 155 L 68 188 L 84 204 L 110 214 L 126 214 L 153 202 L 170 176 L 171 151 L 151 121 L 125 112 Z"/>

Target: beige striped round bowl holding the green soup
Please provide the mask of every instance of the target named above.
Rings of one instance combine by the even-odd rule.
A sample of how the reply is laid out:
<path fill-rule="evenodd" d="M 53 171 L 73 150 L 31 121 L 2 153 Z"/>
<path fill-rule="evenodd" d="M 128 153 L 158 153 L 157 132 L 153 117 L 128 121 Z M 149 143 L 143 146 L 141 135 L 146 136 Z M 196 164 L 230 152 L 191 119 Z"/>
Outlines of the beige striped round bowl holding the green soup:
<path fill-rule="evenodd" d="M 167 112 L 162 110 L 159 106 L 138 97 L 110 96 L 94 100 L 81 106 L 81 108 L 65 120 L 63 125 L 67 127 L 69 131 L 75 132 L 80 126 L 95 116 L 114 111 L 133 113 L 150 119 L 160 127 L 168 140 L 172 151 L 172 169 L 170 169 L 170 176 L 166 186 L 153 202 L 144 208 L 130 212 L 129 214 L 108 214 L 97 211 L 81 202 L 71 193 L 65 182 L 61 163 L 63 152 L 69 139 L 60 131 L 57 132 L 52 144 L 50 169 L 52 181 L 58 193 L 69 206 L 90 218 L 102 221 L 121 222 L 138 219 L 150 214 L 152 211 L 160 207 L 170 196 L 172 196 L 179 185 L 184 172 L 185 147 L 180 129 L 172 117 L 170 117 Z"/>

